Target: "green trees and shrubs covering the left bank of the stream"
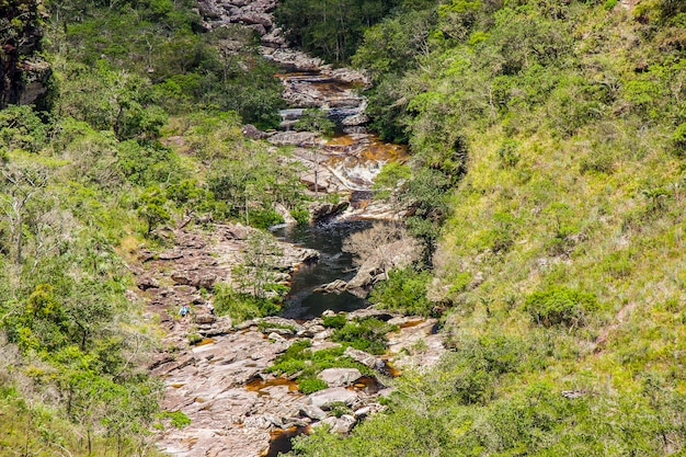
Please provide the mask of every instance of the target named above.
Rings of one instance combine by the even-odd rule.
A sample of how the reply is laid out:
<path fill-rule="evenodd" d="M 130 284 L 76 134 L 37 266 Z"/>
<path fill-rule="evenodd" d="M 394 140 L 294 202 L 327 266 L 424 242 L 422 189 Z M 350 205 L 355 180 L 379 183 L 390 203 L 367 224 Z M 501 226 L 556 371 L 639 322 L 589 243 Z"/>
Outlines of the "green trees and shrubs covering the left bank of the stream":
<path fill-rule="evenodd" d="M 158 411 L 161 385 L 147 373 L 157 334 L 125 294 L 135 287 L 125 265 L 182 222 L 266 227 L 281 221 L 276 203 L 304 205 L 286 152 L 241 134 L 244 123 L 278 124 L 275 68 L 252 32 L 206 32 L 194 7 L 0 2 L 0 76 L 11 83 L 0 106 L 33 82 L 16 66 L 38 66 L 42 50 L 52 67 L 35 106 L 0 111 L 5 453 L 155 455 L 151 430 L 187 418 Z M 284 292 L 263 241 L 240 292 L 220 287 L 220 305 L 233 294 L 230 312 L 244 318 L 275 312 Z"/>

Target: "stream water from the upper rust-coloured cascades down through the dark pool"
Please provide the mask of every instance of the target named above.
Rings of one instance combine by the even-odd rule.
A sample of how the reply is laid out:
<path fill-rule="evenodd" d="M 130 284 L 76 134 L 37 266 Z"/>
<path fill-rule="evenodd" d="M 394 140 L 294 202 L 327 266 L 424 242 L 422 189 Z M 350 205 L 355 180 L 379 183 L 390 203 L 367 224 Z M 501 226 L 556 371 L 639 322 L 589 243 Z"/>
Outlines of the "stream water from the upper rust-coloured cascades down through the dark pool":
<path fill-rule="evenodd" d="M 325 224 L 286 226 L 274 230 L 283 241 L 320 252 L 319 262 L 302 265 L 293 275 L 283 316 L 311 319 L 328 309 L 353 311 L 364 308 L 368 302 L 347 292 L 324 294 L 315 289 L 335 279 L 350 281 L 355 275 L 353 256 L 341 249 L 343 241 L 351 233 L 371 226 L 371 221 L 365 219 L 368 216 L 365 205 L 370 196 L 374 178 L 384 163 L 407 160 L 407 147 L 386 144 L 366 133 L 362 126 L 342 128 L 346 116 L 355 116 L 364 111 L 366 102 L 355 92 L 361 84 L 312 71 L 285 72 L 279 78 L 285 87 L 286 100 L 295 105 L 282 111 L 282 128 L 289 129 L 302 115 L 304 104 L 311 106 L 313 103 L 319 104 L 329 118 L 338 124 L 339 133 L 325 145 L 318 147 L 319 153 L 327 157 L 322 165 L 338 180 L 340 188 L 348 194 L 351 206 L 355 209 L 352 218 L 334 218 Z"/>

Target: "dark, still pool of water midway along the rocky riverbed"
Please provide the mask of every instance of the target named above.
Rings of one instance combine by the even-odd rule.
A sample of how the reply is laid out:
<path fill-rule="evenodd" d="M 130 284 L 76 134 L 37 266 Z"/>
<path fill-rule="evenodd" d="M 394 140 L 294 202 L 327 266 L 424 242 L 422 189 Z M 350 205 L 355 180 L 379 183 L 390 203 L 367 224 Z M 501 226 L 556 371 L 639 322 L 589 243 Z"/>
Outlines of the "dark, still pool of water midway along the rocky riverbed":
<path fill-rule="evenodd" d="M 369 220 L 345 220 L 315 226 L 288 226 L 274 230 L 274 235 L 284 241 L 320 252 L 319 262 L 302 265 L 294 274 L 282 316 L 289 319 L 311 319 L 321 316 L 327 309 L 354 311 L 369 305 L 367 300 L 347 292 L 313 292 L 315 288 L 335 279 L 352 279 L 355 275 L 353 256 L 341 251 L 341 247 L 351 233 L 369 227 Z"/>

